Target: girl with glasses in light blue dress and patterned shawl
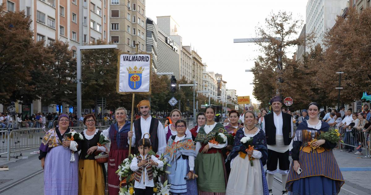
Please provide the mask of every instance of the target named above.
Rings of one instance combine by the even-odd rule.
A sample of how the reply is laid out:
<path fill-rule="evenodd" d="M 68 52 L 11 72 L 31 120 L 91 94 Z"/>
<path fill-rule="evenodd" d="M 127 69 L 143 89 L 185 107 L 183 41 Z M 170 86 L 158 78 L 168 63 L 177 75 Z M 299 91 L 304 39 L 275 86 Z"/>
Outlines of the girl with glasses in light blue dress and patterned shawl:
<path fill-rule="evenodd" d="M 171 165 L 168 167 L 170 192 L 174 195 L 197 195 L 196 175 L 193 172 L 196 147 L 192 139 L 185 136 L 187 123 L 184 120 L 177 120 L 175 127 L 177 134 L 170 136 L 164 152 L 164 157 Z"/>

